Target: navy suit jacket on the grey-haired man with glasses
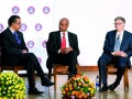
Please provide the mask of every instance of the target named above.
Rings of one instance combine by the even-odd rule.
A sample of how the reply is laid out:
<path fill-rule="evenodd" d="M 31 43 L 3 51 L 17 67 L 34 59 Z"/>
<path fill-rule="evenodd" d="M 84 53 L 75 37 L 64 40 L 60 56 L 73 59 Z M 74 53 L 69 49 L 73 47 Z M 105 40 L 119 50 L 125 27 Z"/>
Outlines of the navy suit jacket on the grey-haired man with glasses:
<path fill-rule="evenodd" d="M 111 53 L 114 52 L 113 48 L 116 44 L 116 35 L 117 35 L 116 30 L 107 33 L 103 45 L 103 54 L 111 55 Z M 131 66 L 130 57 L 132 56 L 132 34 L 128 31 L 124 31 L 123 33 L 120 51 L 123 51 L 128 55 L 128 66 L 130 67 Z"/>

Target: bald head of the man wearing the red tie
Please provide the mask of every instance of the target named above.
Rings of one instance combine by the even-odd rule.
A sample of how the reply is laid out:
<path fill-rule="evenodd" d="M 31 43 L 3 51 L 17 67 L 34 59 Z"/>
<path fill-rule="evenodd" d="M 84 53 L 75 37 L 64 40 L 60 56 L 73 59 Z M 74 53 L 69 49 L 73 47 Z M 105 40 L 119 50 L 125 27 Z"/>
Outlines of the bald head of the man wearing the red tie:
<path fill-rule="evenodd" d="M 63 19 L 59 21 L 59 31 L 61 31 L 61 32 L 66 32 L 67 29 L 68 29 L 68 25 L 69 25 L 68 19 L 63 18 Z"/>

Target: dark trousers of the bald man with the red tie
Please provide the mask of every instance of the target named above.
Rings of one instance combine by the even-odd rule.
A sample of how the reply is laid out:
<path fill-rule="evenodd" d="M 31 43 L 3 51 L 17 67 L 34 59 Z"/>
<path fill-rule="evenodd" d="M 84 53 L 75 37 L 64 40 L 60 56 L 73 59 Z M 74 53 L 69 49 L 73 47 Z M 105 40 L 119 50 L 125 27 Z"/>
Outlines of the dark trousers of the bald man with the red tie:
<path fill-rule="evenodd" d="M 69 74 L 76 75 L 77 53 L 72 51 L 67 54 L 56 54 L 54 56 L 50 56 L 46 62 L 48 73 L 52 73 L 53 64 L 68 65 Z"/>

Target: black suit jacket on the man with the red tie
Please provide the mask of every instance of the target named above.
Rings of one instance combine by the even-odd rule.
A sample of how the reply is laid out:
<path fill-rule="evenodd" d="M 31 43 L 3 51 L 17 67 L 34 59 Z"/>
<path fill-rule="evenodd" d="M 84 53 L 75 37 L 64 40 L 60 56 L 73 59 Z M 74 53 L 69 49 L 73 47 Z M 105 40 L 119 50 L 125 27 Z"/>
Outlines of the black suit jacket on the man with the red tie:
<path fill-rule="evenodd" d="M 68 41 L 69 46 L 76 51 L 77 55 L 79 55 L 78 48 L 78 38 L 74 33 L 68 32 Z M 50 33 L 48 44 L 47 44 L 47 54 L 50 56 L 58 54 L 58 50 L 61 50 L 61 32 L 52 32 Z"/>

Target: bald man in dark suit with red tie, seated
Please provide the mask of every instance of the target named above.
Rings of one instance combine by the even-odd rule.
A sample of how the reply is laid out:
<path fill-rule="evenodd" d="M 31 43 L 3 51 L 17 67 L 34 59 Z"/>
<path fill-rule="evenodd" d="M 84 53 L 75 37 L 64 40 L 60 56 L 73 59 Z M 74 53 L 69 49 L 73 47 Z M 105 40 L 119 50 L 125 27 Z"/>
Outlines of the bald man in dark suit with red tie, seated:
<path fill-rule="evenodd" d="M 47 54 L 50 55 L 46 66 L 52 73 L 52 64 L 64 64 L 69 66 L 68 78 L 76 75 L 77 56 L 79 55 L 77 35 L 68 32 L 69 21 L 64 18 L 59 21 L 59 31 L 50 33 Z"/>

